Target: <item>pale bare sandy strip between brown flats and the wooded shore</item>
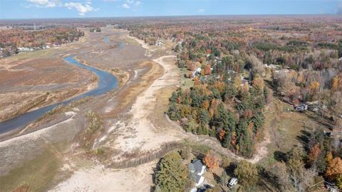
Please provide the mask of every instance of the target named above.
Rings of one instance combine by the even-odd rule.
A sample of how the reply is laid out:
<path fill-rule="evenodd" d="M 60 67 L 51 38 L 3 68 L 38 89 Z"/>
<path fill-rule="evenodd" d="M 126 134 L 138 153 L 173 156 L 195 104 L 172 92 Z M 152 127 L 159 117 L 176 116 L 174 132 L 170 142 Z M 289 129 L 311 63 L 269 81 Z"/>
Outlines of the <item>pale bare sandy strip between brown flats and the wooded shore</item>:
<path fill-rule="evenodd" d="M 142 40 L 135 39 L 142 47 L 148 48 Z M 106 141 L 103 145 L 110 148 L 120 149 L 120 153 L 115 158 L 120 158 L 123 153 L 131 151 L 151 151 L 157 150 L 162 143 L 179 141 L 182 133 L 177 131 L 160 131 L 150 121 L 149 116 L 154 112 L 159 92 L 166 87 L 175 87 L 180 83 L 180 72 L 172 59 L 175 56 L 161 56 L 154 59 L 155 63 L 162 66 L 164 72 L 162 76 L 148 86 L 145 91 L 137 96 L 128 112 L 131 118 L 125 122 L 115 123 L 108 131 L 108 135 L 123 133 L 114 140 Z M 171 61 L 166 61 L 170 59 Z M 166 133 L 165 133 L 166 132 Z M 107 135 L 100 141 L 107 140 Z M 134 168 L 114 170 L 103 166 L 93 166 L 92 168 L 81 168 L 73 172 L 71 178 L 59 183 L 51 191 L 150 191 L 152 183 L 152 168 L 157 161 L 145 163 Z M 113 185 L 113 183 L 115 183 Z"/>

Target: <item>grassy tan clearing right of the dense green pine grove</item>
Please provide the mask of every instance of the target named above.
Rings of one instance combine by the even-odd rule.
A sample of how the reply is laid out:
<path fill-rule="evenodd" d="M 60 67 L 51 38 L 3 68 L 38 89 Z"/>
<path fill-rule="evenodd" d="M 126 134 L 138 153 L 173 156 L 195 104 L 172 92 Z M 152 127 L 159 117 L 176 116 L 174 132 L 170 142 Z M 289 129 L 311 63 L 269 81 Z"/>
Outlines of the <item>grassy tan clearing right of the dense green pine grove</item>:
<path fill-rule="evenodd" d="M 329 131 L 328 127 L 309 118 L 305 113 L 291 111 L 292 108 L 293 106 L 276 97 L 272 98 L 269 107 L 266 108 L 265 126 L 271 142 L 266 146 L 268 154 L 260 161 L 261 164 L 271 166 L 272 163 L 281 160 L 279 154 L 288 152 L 294 146 L 301 146 L 304 131 L 313 131 L 317 128 Z"/>

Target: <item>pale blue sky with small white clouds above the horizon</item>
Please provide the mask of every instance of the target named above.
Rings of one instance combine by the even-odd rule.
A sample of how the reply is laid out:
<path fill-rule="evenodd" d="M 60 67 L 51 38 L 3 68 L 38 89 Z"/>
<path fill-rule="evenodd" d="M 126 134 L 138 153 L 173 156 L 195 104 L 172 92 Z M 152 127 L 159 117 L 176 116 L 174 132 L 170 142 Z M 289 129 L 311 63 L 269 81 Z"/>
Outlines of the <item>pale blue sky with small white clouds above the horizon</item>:
<path fill-rule="evenodd" d="M 0 19 L 341 14 L 342 0 L 0 0 Z"/>

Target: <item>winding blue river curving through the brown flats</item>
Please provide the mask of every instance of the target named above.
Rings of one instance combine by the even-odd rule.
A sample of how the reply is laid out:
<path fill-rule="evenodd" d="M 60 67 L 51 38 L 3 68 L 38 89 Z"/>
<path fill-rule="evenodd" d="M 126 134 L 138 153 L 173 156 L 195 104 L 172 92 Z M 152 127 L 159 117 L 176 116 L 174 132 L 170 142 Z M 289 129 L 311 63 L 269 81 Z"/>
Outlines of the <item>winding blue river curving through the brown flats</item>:
<path fill-rule="evenodd" d="M 73 56 L 68 56 L 63 59 L 68 64 L 76 65 L 83 69 L 88 69 L 89 71 L 92 71 L 94 74 L 96 74 L 96 76 L 98 76 L 98 86 L 91 91 L 88 91 L 74 98 L 68 99 L 66 101 L 62 101 L 60 103 L 55 103 L 49 106 L 45 106 L 43 108 L 38 108 L 34 111 L 30 111 L 20 116 L 11 118 L 9 120 L 2 121 L 0 122 L 0 135 L 4 133 L 9 133 L 10 131 L 15 131 L 19 128 L 23 128 L 24 126 L 28 125 L 28 123 L 33 122 L 40 116 L 43 116 L 44 113 L 51 111 L 51 109 L 55 108 L 58 105 L 61 105 L 61 104 L 65 105 L 73 101 L 77 101 L 78 99 L 84 98 L 86 96 L 98 96 L 101 94 L 105 94 L 108 91 L 112 91 L 113 89 L 118 87 L 118 79 L 116 79 L 116 77 L 113 76 L 112 74 L 106 71 L 95 69 L 91 66 L 80 64 L 78 61 L 76 61 L 76 59 L 74 59 Z"/>

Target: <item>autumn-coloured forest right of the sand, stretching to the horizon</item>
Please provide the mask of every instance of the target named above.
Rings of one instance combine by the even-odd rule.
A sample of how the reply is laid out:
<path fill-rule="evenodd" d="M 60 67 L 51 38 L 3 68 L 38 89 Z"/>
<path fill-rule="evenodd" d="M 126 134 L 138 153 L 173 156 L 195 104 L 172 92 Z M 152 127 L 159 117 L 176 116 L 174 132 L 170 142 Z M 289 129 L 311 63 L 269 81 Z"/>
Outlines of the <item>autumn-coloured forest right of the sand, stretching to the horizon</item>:
<path fill-rule="evenodd" d="M 187 132 L 217 138 L 239 156 L 252 158 L 264 139 L 270 94 L 294 108 L 305 103 L 328 119 L 331 133 L 304 131 L 298 136 L 302 145 L 275 153 L 272 166 L 234 164 L 244 191 L 255 191 L 265 181 L 281 191 L 308 191 L 323 181 L 342 188 L 341 138 L 333 135 L 342 125 L 341 21 L 334 16 L 218 16 L 145 19 L 120 28 L 150 45 L 157 39 L 174 42 L 177 66 L 192 84 L 185 80 L 172 94 L 167 116 Z M 249 170 L 240 174 L 239 167 Z"/>

